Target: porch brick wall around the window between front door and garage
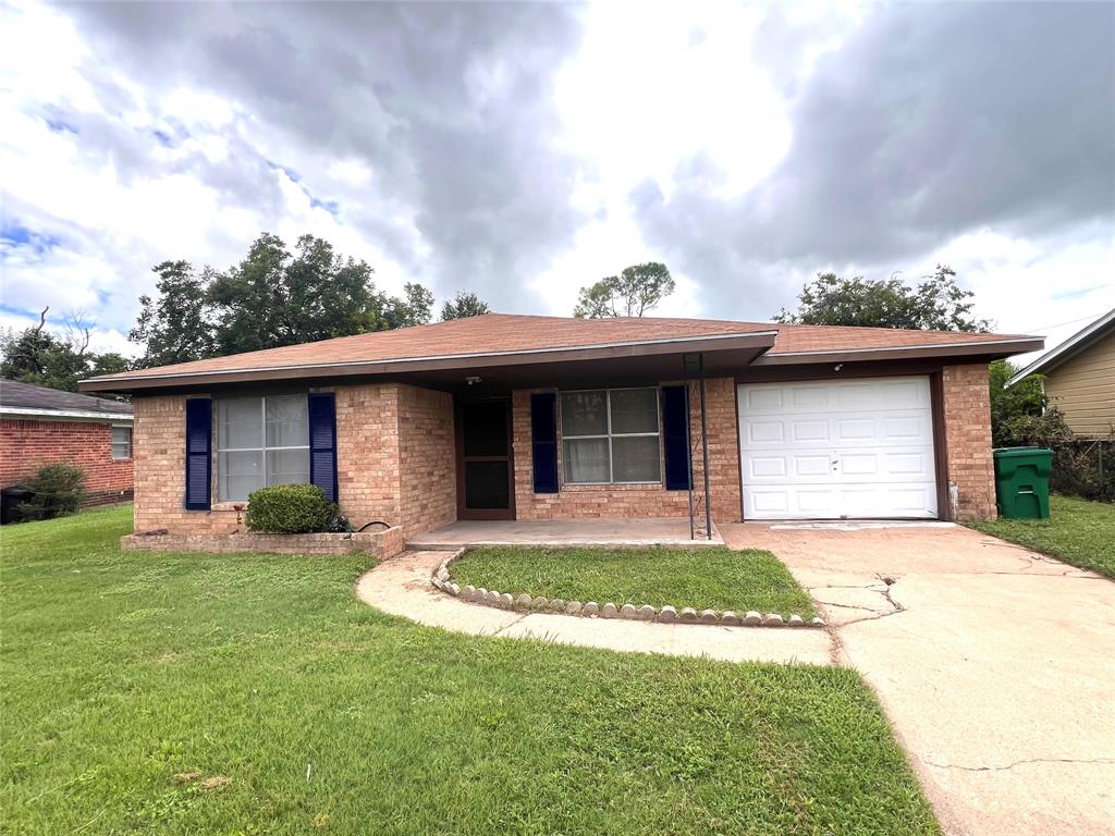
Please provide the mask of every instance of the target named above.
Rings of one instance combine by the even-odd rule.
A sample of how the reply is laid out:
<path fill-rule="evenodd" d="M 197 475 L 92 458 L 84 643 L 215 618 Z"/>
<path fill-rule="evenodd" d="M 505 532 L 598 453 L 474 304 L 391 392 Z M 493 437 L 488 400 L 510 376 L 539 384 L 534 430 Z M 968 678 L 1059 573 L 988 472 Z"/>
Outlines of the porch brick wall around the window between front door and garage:
<path fill-rule="evenodd" d="M 515 453 L 515 516 L 518 519 L 568 519 L 573 517 L 688 517 L 689 493 L 656 485 L 564 484 L 559 427 L 558 469 L 561 490 L 535 494 L 531 460 L 531 395 L 547 389 L 520 389 L 512 395 L 512 428 Z M 706 382 L 709 490 L 712 519 L 739 519 L 739 456 L 736 443 L 736 386 L 730 378 Z M 698 400 L 690 402 L 694 438 L 700 430 Z M 695 484 L 702 485 L 701 454 L 694 457 Z"/>

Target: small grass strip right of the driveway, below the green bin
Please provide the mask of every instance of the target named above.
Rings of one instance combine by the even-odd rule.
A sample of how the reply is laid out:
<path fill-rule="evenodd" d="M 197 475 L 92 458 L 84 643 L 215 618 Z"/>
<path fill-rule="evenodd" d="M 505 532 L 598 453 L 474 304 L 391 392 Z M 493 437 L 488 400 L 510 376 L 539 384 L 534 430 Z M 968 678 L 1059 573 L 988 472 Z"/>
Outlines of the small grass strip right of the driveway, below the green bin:
<path fill-rule="evenodd" d="M 1111 503 L 1054 494 L 1048 519 L 995 519 L 970 525 L 1115 580 L 1115 505 Z"/>

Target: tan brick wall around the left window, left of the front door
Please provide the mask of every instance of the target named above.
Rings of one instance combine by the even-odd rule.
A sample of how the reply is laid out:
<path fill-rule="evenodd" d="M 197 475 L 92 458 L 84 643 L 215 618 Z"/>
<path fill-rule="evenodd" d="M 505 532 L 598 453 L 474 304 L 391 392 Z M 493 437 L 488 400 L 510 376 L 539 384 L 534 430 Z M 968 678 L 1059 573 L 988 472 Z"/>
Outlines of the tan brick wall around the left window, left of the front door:
<path fill-rule="evenodd" d="M 382 521 L 400 526 L 409 537 L 456 519 L 453 398 L 395 383 L 332 391 L 340 506 L 352 525 Z M 231 503 L 214 504 L 210 511 L 184 508 L 185 400 L 135 399 L 135 531 L 244 531 L 243 512 Z"/>

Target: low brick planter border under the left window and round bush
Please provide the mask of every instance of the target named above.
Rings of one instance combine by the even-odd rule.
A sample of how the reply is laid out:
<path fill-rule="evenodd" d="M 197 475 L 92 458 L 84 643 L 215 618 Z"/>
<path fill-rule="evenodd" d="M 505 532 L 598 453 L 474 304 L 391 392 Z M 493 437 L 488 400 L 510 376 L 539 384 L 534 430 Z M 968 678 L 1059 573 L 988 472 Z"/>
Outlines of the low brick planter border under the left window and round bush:
<path fill-rule="evenodd" d="M 154 552 L 264 552 L 271 554 L 370 554 L 394 557 L 405 548 L 403 528 L 351 534 L 168 534 L 156 529 L 120 538 L 124 551 Z"/>

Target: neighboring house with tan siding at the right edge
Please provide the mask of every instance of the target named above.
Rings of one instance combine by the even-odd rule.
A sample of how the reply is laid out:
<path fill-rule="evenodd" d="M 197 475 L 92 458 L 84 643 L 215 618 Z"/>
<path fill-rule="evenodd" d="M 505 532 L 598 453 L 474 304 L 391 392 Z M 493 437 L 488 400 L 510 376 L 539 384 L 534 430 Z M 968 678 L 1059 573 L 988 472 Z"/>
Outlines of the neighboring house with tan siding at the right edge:
<path fill-rule="evenodd" d="M 1046 397 L 1078 436 L 1115 432 L 1115 310 L 1080 329 L 1007 381 L 1041 375 Z"/>

